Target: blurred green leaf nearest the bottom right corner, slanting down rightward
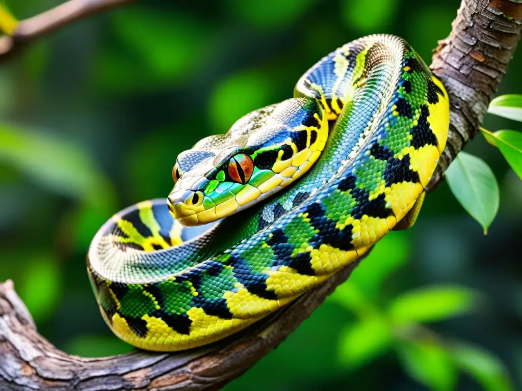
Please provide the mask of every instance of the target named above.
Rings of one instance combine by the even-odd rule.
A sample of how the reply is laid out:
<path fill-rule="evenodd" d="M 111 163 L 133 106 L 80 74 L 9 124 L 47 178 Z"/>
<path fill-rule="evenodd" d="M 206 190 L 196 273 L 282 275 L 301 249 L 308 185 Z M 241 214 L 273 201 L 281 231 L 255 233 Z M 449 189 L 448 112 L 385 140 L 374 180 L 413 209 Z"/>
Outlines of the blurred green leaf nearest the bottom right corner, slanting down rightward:
<path fill-rule="evenodd" d="M 487 391 L 513 391 L 512 380 L 502 362 L 492 353 L 468 344 L 451 348 L 452 358 L 460 370 L 469 373 Z"/>

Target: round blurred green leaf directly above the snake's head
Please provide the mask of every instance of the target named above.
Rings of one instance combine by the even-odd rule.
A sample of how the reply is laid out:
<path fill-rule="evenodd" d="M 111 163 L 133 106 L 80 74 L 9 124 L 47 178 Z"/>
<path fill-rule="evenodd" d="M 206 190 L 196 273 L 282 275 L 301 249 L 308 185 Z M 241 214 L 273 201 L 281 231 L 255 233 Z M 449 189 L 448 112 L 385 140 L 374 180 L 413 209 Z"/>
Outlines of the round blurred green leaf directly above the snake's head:
<path fill-rule="evenodd" d="M 218 132 L 226 132 L 241 116 L 271 102 L 274 85 L 256 71 L 224 79 L 210 96 L 209 115 Z"/>

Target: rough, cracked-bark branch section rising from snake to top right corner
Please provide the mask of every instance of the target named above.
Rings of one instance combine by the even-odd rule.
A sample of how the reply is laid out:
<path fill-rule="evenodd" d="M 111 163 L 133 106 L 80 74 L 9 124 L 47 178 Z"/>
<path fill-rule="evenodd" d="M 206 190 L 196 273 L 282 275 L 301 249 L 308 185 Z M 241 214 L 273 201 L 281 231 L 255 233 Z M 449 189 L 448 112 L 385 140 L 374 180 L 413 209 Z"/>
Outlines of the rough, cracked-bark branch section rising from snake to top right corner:
<path fill-rule="evenodd" d="M 522 3 L 462 1 L 448 38 L 439 41 L 430 66 L 450 102 L 449 135 L 428 190 L 478 132 L 488 106 L 515 53 L 522 29 Z"/>

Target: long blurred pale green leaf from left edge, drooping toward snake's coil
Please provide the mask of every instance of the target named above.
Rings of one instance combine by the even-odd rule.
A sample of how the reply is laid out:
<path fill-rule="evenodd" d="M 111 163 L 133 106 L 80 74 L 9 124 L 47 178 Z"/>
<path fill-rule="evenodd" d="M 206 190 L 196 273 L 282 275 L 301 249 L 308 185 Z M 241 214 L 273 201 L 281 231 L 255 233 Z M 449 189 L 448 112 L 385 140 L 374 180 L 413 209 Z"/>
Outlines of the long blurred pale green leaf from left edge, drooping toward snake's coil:
<path fill-rule="evenodd" d="M 84 251 L 116 209 L 112 184 L 79 145 L 0 124 L 0 167 L 6 164 L 48 190 L 81 201 L 68 239 Z"/>

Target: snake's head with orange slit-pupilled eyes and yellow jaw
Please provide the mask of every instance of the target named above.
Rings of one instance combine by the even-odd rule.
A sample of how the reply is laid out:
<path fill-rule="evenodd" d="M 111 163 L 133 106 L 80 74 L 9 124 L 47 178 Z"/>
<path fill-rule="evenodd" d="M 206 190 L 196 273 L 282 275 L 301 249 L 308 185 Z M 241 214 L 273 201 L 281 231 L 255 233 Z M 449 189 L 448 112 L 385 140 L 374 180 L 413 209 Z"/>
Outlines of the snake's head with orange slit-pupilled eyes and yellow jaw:
<path fill-rule="evenodd" d="M 226 135 L 182 152 L 172 170 L 172 215 L 186 226 L 210 223 L 290 185 L 324 149 L 324 117 L 315 103 L 291 99 L 247 114 Z"/>

